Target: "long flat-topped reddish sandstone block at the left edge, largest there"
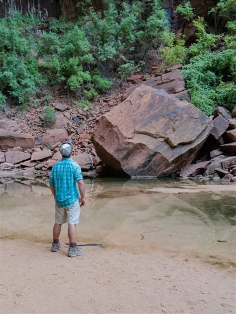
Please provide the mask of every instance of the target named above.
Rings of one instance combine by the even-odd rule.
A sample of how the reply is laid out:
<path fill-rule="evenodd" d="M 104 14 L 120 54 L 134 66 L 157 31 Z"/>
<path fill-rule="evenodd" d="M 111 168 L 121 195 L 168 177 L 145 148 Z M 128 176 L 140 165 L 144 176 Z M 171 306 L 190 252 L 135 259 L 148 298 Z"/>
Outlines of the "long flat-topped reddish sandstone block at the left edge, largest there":
<path fill-rule="evenodd" d="M 34 138 L 29 134 L 0 129 L 0 147 L 10 148 L 20 146 L 23 149 L 34 146 Z"/>

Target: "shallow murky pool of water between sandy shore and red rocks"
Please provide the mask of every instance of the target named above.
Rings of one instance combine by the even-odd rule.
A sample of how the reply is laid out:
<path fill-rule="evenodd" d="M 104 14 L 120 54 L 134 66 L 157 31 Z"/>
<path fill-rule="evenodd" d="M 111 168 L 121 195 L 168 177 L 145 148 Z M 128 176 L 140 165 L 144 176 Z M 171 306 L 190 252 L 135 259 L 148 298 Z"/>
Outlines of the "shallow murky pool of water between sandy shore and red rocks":
<path fill-rule="evenodd" d="M 236 184 L 163 180 L 85 180 L 79 242 L 138 254 L 167 250 L 235 263 Z M 47 186 L 0 185 L 0 237 L 51 242 L 54 200 Z M 66 226 L 61 241 L 67 241 Z"/>

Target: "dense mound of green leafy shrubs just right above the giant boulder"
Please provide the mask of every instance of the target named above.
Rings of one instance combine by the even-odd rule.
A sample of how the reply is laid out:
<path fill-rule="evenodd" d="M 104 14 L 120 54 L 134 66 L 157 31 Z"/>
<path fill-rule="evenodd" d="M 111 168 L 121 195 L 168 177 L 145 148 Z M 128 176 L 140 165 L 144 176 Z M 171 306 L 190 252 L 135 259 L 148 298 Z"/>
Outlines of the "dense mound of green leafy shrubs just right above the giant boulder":
<path fill-rule="evenodd" d="M 227 83 L 236 74 L 234 50 L 205 53 L 191 59 L 182 71 L 187 88 L 190 89 L 191 103 L 210 115 L 215 105 L 232 109 L 236 97 L 234 83 Z"/>

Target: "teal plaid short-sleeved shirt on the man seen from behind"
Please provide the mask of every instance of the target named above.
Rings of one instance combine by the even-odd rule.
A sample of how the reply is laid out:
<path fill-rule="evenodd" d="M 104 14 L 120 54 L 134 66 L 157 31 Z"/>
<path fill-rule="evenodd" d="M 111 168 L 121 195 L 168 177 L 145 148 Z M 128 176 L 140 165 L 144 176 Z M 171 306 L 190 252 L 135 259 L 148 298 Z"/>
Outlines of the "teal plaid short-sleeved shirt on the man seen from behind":
<path fill-rule="evenodd" d="M 54 186 L 56 205 L 72 206 L 79 199 L 77 182 L 83 180 L 80 166 L 71 158 L 62 158 L 52 168 L 49 185 Z"/>

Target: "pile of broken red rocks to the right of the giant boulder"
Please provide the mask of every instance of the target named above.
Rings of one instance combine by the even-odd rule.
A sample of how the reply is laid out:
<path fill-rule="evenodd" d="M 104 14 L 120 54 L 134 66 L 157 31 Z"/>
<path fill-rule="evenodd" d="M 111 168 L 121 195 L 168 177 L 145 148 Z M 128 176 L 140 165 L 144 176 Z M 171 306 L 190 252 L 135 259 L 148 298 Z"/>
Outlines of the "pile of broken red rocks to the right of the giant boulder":
<path fill-rule="evenodd" d="M 202 158 L 181 169 L 181 177 L 236 182 L 236 107 L 214 110 L 213 128 L 204 144 Z"/>

